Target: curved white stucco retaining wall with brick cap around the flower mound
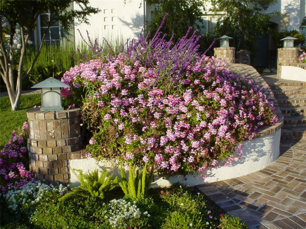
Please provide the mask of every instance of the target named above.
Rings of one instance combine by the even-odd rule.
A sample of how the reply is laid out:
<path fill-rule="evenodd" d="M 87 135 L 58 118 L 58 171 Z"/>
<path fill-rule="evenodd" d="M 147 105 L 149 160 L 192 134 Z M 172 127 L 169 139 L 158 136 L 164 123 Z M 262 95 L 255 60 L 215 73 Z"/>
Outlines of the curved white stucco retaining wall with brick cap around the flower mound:
<path fill-rule="evenodd" d="M 279 119 L 278 122 L 271 127 L 258 129 L 254 139 L 244 141 L 244 147 L 242 148 L 244 154 L 241 156 L 241 160 L 234 162 L 233 166 L 211 169 L 207 171 L 209 176 L 205 180 L 202 179 L 201 174 L 187 174 L 186 176 L 177 175 L 169 177 L 169 179 L 155 176 L 152 184 L 153 187 L 169 186 L 176 182 L 193 186 L 240 177 L 265 168 L 274 162 L 279 156 L 281 126 L 283 125 L 284 117 L 279 110 L 272 91 L 253 67 L 246 64 L 233 63 L 228 64 L 227 67 L 231 68 L 236 74 L 256 80 L 257 84 L 262 86 L 264 91 L 267 90 L 266 95 L 271 97 L 271 100 L 274 101 L 274 106 Z M 114 161 L 97 162 L 94 158 L 80 159 L 83 157 L 84 153 L 85 151 L 71 153 L 71 157 L 69 157 L 71 158 L 71 160 L 69 160 L 71 168 L 81 169 L 84 172 L 106 168 L 108 170 L 113 170 L 114 176 L 120 174 Z M 78 185 L 77 177 L 73 173 L 70 173 L 70 184 L 72 186 Z"/>

